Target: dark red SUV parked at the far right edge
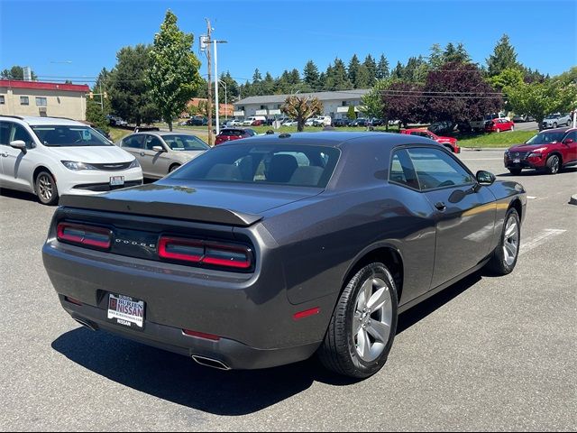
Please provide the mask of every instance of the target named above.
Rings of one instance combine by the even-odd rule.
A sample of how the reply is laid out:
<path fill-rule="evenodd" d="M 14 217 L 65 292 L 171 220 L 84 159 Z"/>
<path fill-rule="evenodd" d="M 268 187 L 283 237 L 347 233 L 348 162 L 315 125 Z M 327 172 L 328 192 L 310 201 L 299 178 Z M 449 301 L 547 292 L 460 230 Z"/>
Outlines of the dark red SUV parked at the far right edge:
<path fill-rule="evenodd" d="M 541 131 L 526 143 L 505 151 L 505 167 L 516 176 L 523 169 L 555 174 L 574 166 L 577 166 L 577 128 Z"/>

